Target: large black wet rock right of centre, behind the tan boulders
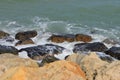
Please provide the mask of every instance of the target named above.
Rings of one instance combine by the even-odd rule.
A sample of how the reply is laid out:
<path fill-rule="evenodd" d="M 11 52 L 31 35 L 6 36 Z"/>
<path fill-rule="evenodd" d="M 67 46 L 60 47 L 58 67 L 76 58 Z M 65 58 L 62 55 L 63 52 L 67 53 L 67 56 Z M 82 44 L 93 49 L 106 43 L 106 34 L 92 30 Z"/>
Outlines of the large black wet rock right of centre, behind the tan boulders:
<path fill-rule="evenodd" d="M 88 51 L 96 51 L 96 52 L 104 52 L 108 48 L 101 42 L 94 43 L 79 43 L 74 45 L 73 52 L 88 52 Z"/>

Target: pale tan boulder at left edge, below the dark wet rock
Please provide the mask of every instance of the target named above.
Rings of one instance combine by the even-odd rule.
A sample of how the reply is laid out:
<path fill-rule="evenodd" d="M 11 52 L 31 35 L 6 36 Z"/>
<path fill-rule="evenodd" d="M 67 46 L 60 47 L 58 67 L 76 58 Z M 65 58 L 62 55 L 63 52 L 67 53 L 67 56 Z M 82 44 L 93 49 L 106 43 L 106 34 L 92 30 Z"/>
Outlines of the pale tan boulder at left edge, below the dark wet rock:
<path fill-rule="evenodd" d="M 0 54 L 0 76 L 8 69 L 17 66 L 38 67 L 38 64 L 31 59 L 19 58 L 11 53 Z"/>

